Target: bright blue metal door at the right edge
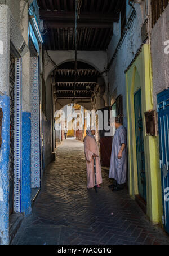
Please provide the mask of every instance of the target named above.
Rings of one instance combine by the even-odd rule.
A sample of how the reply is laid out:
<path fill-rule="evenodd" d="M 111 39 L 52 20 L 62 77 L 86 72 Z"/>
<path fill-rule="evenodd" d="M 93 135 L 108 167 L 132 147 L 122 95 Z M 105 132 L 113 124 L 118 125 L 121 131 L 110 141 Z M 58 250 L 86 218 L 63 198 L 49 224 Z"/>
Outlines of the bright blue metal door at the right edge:
<path fill-rule="evenodd" d="M 163 195 L 163 224 L 166 231 L 169 233 L 169 90 L 159 93 L 157 103 Z"/>

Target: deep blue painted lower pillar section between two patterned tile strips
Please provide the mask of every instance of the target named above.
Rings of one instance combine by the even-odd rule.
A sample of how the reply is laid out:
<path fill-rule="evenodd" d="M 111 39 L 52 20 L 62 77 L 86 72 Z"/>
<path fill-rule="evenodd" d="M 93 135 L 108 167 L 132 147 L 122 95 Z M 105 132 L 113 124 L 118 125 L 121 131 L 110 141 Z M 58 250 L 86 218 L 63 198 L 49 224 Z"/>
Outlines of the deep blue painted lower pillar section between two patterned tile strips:
<path fill-rule="evenodd" d="M 21 175 L 21 212 L 25 217 L 31 208 L 31 114 L 22 113 L 22 175 Z"/>

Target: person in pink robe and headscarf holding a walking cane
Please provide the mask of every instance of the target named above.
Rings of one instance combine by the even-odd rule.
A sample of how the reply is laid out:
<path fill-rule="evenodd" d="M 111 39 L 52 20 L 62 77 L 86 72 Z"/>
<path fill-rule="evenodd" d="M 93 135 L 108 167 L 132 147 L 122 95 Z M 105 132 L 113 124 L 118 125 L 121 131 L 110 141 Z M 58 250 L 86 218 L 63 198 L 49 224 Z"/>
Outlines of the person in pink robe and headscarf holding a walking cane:
<path fill-rule="evenodd" d="M 95 186 L 94 158 L 96 159 L 97 187 L 101 187 L 100 184 L 102 183 L 99 147 L 97 146 L 94 135 L 95 127 L 88 127 L 86 130 L 86 137 L 84 138 L 84 153 L 86 156 L 87 168 L 87 189 L 91 189 Z"/>

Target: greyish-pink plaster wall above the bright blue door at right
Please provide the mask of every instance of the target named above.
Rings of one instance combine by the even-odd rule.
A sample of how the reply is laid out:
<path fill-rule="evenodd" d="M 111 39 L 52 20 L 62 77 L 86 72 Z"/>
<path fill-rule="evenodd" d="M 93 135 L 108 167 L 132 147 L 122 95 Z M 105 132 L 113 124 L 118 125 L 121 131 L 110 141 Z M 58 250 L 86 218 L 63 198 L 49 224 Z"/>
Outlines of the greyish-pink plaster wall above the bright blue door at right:
<path fill-rule="evenodd" d="M 169 87 L 169 54 L 164 52 L 165 41 L 169 40 L 169 5 L 152 29 L 151 50 L 153 69 L 154 109 L 157 104 L 157 94 Z"/>

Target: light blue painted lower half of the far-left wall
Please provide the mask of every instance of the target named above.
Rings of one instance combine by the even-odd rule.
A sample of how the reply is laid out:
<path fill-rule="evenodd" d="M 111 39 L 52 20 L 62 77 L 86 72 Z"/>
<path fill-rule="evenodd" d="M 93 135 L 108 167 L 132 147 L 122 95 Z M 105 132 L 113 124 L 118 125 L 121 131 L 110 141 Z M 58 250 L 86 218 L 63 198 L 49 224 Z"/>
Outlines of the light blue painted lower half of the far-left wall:
<path fill-rule="evenodd" d="M 2 146 L 0 148 L 0 245 L 9 242 L 9 172 L 10 156 L 10 98 L 0 95 Z"/>

